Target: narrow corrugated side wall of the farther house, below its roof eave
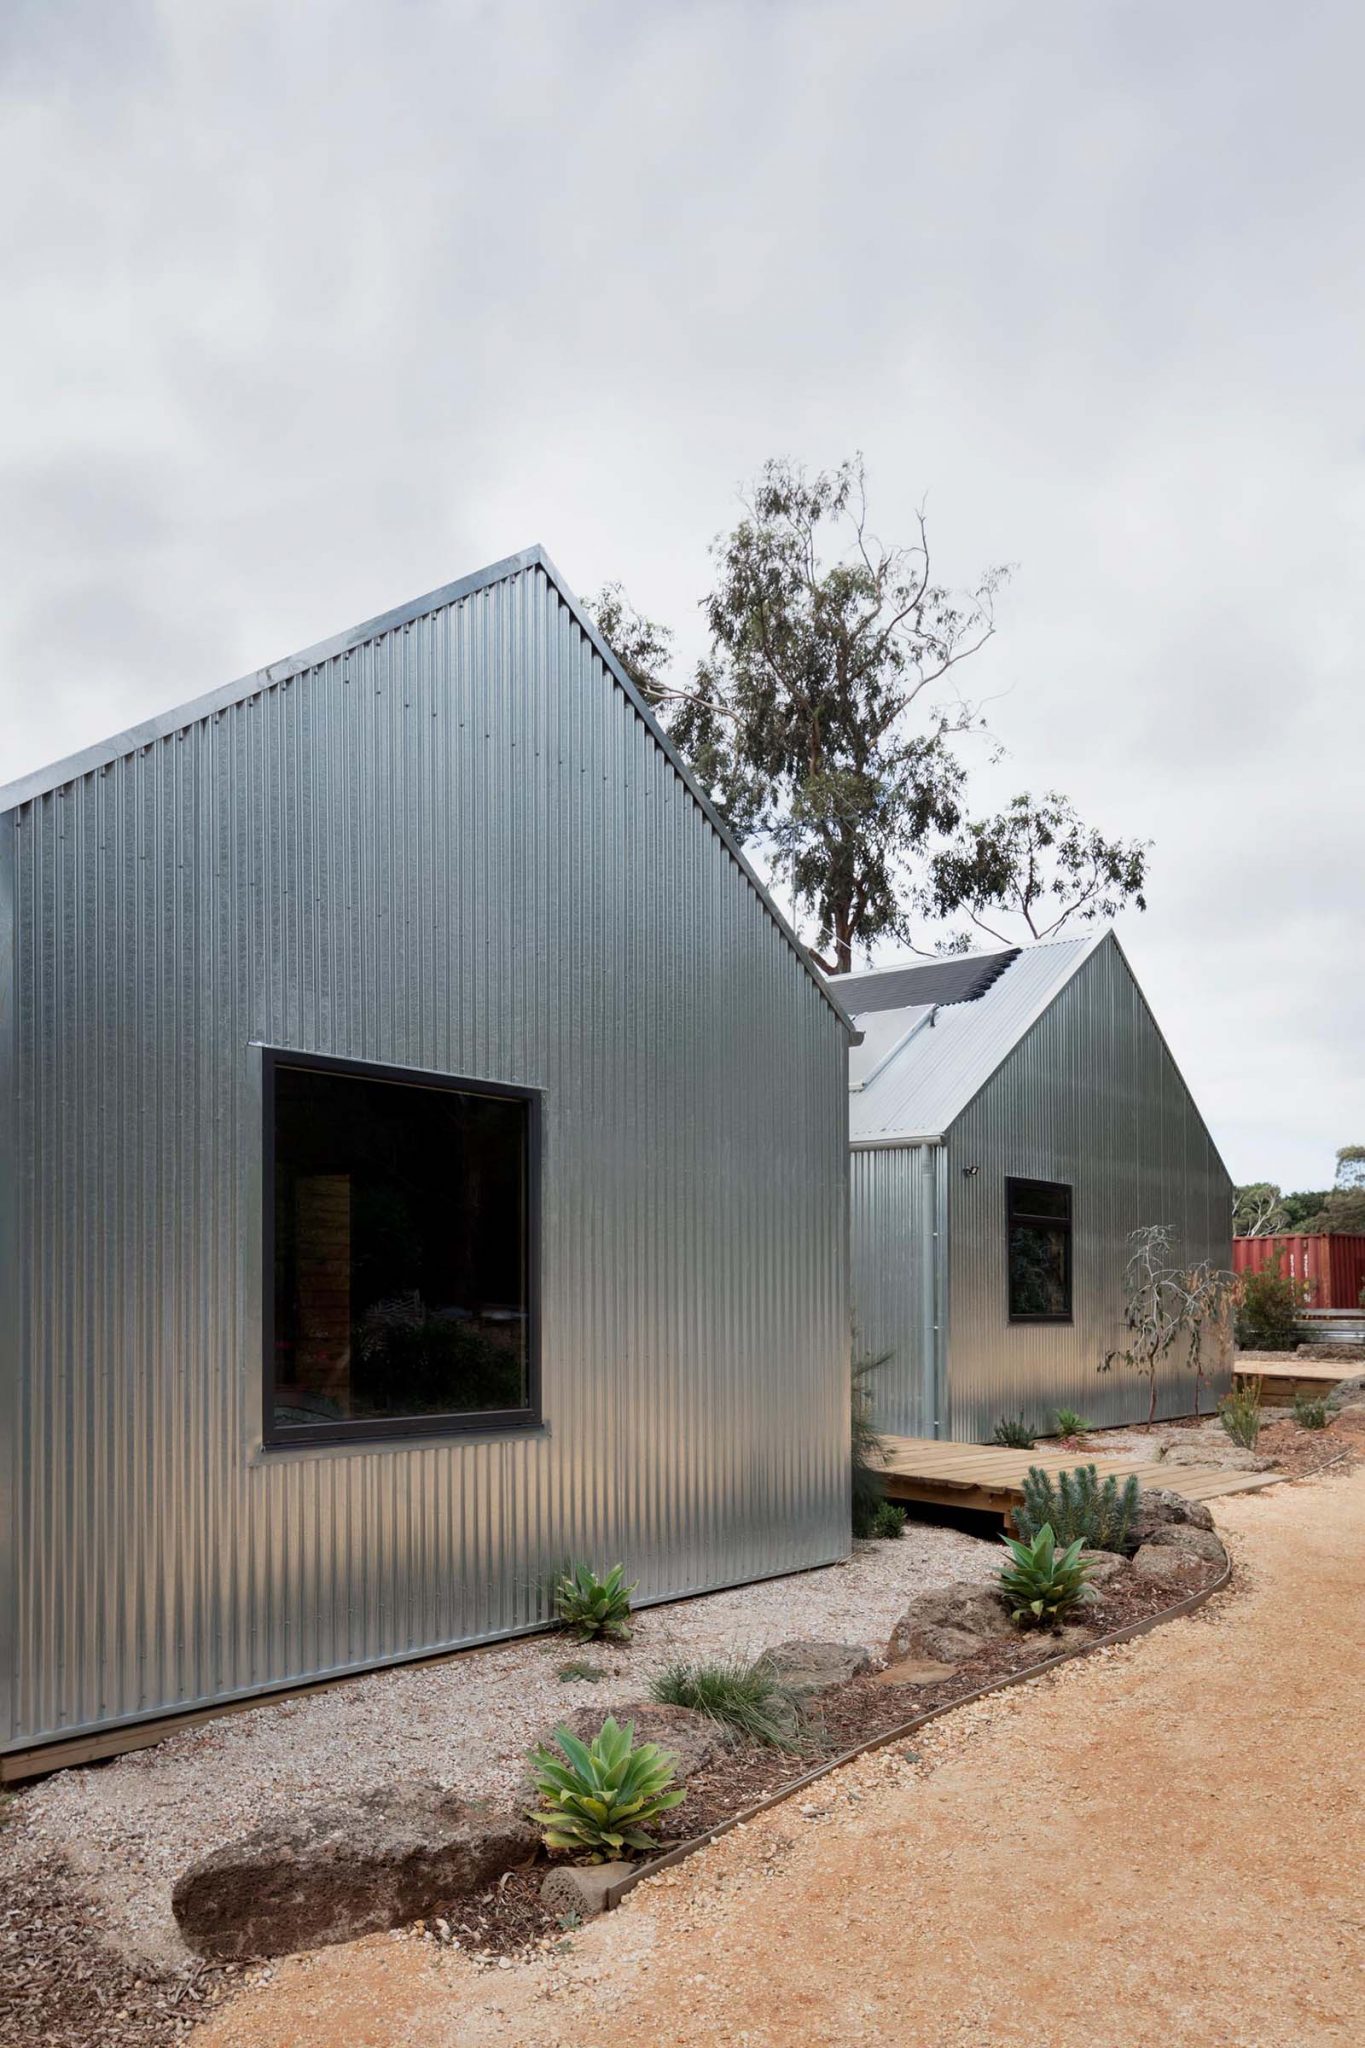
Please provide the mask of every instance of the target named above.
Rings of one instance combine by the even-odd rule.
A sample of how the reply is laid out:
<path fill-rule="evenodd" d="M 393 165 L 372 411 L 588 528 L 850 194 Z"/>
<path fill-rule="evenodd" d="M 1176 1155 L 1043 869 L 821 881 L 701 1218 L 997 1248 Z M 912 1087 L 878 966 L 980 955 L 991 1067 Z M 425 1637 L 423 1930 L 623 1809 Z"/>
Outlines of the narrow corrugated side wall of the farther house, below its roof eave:
<path fill-rule="evenodd" d="M 937 1436 L 945 1335 L 945 1151 L 857 1149 L 851 1165 L 853 1350 L 886 1364 L 872 1382 L 878 1430 Z"/>

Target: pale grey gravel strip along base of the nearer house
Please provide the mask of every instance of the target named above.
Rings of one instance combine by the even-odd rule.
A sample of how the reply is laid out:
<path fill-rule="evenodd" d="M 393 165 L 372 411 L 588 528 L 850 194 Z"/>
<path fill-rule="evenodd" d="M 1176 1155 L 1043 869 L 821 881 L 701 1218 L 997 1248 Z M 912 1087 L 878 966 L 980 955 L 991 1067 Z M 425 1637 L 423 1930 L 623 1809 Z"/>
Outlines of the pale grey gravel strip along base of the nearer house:
<path fill-rule="evenodd" d="M 988 1579 L 995 1542 L 907 1524 L 900 1542 L 857 1544 L 847 1565 L 645 1608 L 634 1642 L 600 1651 L 532 1636 L 424 1669 L 381 1671 L 307 1700 L 229 1714 L 23 1792 L 6 1833 L 25 1864 L 61 1862 L 100 1931 L 151 1972 L 192 1958 L 170 1913 L 176 1876 L 266 1817 L 403 1778 L 514 1800 L 526 1751 L 577 1706 L 643 1696 L 677 1657 L 755 1657 L 792 1636 L 880 1649 L 911 1593 Z M 573 1657 L 604 1681 L 563 1683 Z"/>

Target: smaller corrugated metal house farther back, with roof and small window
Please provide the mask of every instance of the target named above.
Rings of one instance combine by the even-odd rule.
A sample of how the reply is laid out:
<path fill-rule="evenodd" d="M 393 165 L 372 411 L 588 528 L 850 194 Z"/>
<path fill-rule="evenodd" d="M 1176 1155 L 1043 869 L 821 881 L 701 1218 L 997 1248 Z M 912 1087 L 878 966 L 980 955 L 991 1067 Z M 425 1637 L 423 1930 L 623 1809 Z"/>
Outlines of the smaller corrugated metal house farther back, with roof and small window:
<path fill-rule="evenodd" d="M 857 1350 L 880 1427 L 980 1442 L 1003 1415 L 1146 1417 L 1130 1231 L 1228 1268 L 1232 1182 L 1111 932 L 831 981 L 849 1055 Z M 1207 1362 L 1207 1360 L 1205 1360 Z M 1181 1364 L 1158 1413 L 1191 1409 Z"/>

